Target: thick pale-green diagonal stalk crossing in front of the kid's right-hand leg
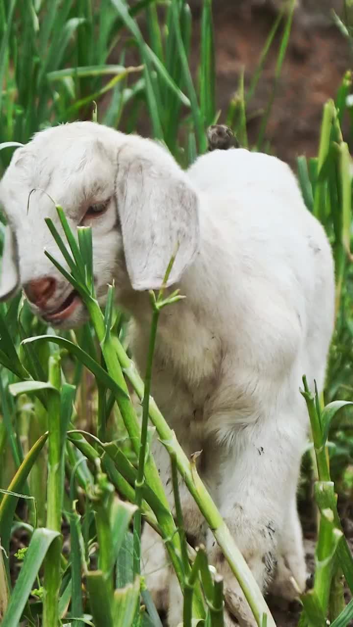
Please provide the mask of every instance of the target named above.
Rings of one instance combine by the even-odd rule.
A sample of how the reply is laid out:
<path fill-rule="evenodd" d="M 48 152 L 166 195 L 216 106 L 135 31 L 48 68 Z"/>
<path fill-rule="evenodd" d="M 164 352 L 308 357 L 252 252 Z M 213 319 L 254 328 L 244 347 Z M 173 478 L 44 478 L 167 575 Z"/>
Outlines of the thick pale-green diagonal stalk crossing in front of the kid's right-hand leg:
<path fill-rule="evenodd" d="M 139 398 L 143 398 L 143 381 L 141 380 L 133 361 L 129 359 L 117 338 L 112 339 L 112 342 L 114 342 L 114 348 L 117 352 L 119 362 L 121 363 L 121 367 L 124 370 L 126 377 L 128 377 Z M 266 613 L 268 615 L 268 627 L 275 627 L 274 620 L 266 601 L 264 600 L 258 584 L 247 566 L 244 557 L 237 548 L 234 538 L 217 510 L 215 503 L 207 492 L 204 483 L 202 483 L 198 477 L 195 468 L 192 468 L 190 465 L 190 461 L 176 440 L 175 433 L 170 429 L 168 423 L 166 423 L 153 398 L 149 399 L 149 418 L 155 425 L 157 433 L 167 450 L 170 453 L 175 453 L 178 470 L 182 475 L 189 492 L 192 494 L 195 502 L 200 508 L 200 511 L 204 515 L 207 524 L 210 529 L 212 529 L 212 533 L 222 549 L 225 559 L 227 559 L 232 572 L 234 572 L 237 581 L 239 581 L 258 625 L 262 624 L 263 614 Z"/>

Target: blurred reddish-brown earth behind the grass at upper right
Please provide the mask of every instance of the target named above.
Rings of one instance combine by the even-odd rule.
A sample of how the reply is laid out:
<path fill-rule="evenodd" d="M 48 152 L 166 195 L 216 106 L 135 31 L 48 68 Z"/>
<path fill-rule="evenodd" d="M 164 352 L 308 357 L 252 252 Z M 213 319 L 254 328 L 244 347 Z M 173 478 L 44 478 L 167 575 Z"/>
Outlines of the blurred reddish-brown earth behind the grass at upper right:
<path fill-rule="evenodd" d="M 266 38 L 273 28 L 285 0 L 214 0 L 212 13 L 215 36 L 216 105 L 225 121 L 229 102 L 237 92 L 244 68 L 244 90 L 251 83 Z M 271 152 L 291 166 L 296 156 L 317 154 L 322 106 L 334 98 L 342 76 L 352 67 L 353 51 L 349 38 L 335 16 L 350 23 L 349 3 L 344 0 L 297 0 L 285 60 L 276 85 L 266 140 Z M 190 0 L 193 13 L 190 66 L 196 74 L 200 58 L 200 21 L 202 0 Z M 353 24 L 353 22 L 352 22 Z M 146 25 L 141 23 L 144 31 Z M 258 86 L 247 105 L 249 144 L 256 144 L 264 109 L 273 89 L 278 62 L 279 28 L 269 49 Z M 126 34 L 128 37 L 128 34 Z M 119 58 L 120 46 L 112 58 Z M 131 58 L 131 61 L 133 61 Z M 140 119 L 142 134 L 151 132 L 148 120 Z M 347 138 L 346 138 L 347 139 Z"/>

